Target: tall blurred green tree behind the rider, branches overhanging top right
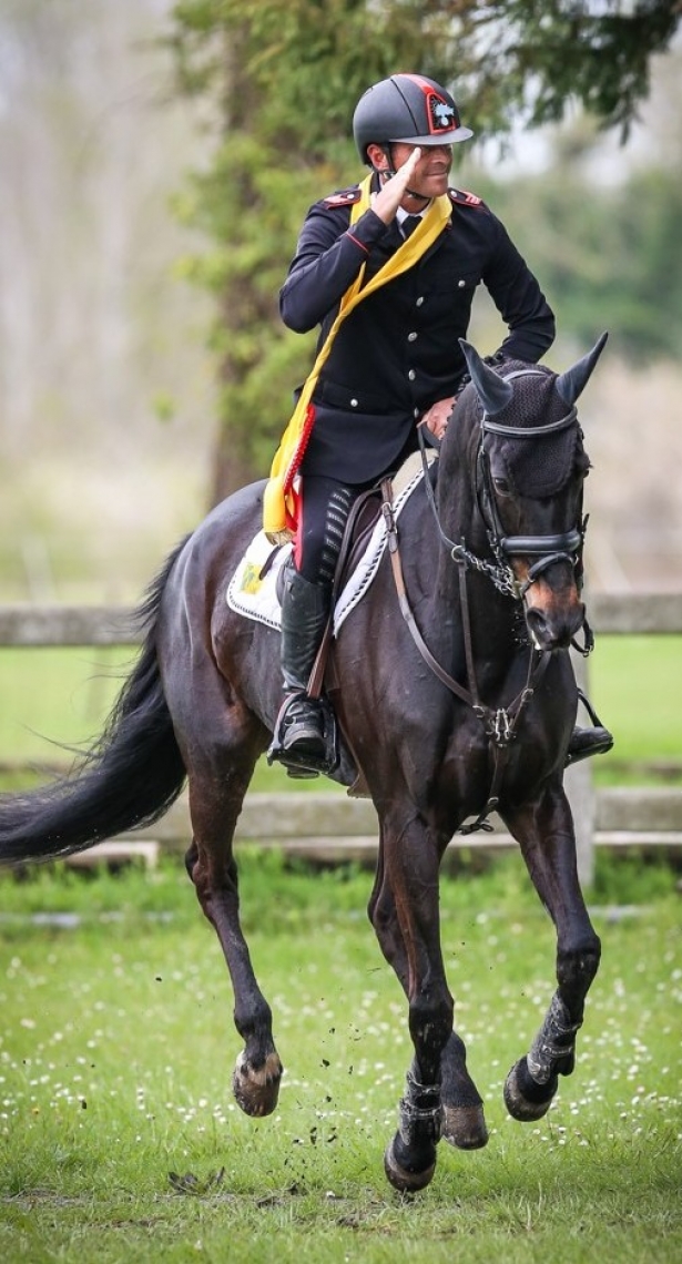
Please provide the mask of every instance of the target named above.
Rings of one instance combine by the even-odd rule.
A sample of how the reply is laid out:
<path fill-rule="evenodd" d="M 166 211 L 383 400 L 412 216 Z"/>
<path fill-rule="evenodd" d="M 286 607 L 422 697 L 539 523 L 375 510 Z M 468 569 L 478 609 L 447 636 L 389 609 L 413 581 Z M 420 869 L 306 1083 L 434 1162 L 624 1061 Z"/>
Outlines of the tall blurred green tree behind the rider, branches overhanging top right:
<path fill-rule="evenodd" d="M 267 471 L 310 364 L 313 339 L 283 330 L 277 292 L 306 206 L 357 174 L 350 118 L 367 85 L 396 67 L 454 80 L 480 135 L 561 119 L 576 99 L 625 135 L 681 16 L 653 0 L 259 0 L 248 15 L 243 0 L 175 5 L 178 83 L 215 131 L 211 167 L 177 201 L 214 243 L 186 260 L 218 307 L 214 499 Z"/>

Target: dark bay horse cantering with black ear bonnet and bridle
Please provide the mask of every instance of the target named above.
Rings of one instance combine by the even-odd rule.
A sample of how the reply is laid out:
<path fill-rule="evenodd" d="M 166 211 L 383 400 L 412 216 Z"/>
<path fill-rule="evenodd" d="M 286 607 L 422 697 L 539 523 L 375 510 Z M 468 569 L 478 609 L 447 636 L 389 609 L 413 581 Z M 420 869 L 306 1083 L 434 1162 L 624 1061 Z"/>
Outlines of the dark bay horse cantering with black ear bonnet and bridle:
<path fill-rule="evenodd" d="M 555 924 L 557 990 L 505 1086 L 516 1119 L 544 1115 L 558 1076 L 573 1071 L 598 966 L 563 770 L 577 707 L 568 647 L 585 624 L 588 460 L 576 399 L 602 345 L 557 375 L 519 363 L 496 370 L 463 344 L 472 382 L 438 478 L 412 493 L 397 532 L 385 506 L 390 547 L 332 651 L 344 736 L 335 777 L 349 784 L 359 772 L 377 810 L 369 918 L 405 991 L 414 1044 L 385 1155 L 402 1191 L 431 1179 L 440 1138 L 462 1149 L 487 1140 L 440 948 L 439 863 L 456 830 L 471 817 L 483 825 L 496 808 Z M 220 504 L 168 559 L 138 612 L 137 666 L 72 774 L 0 799 L 0 861 L 25 862 L 151 824 L 187 780 L 186 866 L 225 954 L 244 1042 L 233 1088 L 253 1116 L 275 1109 L 282 1066 L 239 924 L 233 834 L 281 678 L 277 631 L 235 614 L 225 590 L 259 527 L 263 485 Z"/>

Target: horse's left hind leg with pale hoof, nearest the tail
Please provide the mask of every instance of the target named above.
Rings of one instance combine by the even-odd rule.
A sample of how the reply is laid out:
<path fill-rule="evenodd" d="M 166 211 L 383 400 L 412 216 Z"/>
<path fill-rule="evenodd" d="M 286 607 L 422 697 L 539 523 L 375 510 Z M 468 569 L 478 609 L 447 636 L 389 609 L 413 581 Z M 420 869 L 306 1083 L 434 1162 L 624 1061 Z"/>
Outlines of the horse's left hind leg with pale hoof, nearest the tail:
<path fill-rule="evenodd" d="M 202 726 L 206 722 L 204 712 Z M 239 921 L 233 836 L 263 742 L 239 704 L 225 708 L 220 728 L 219 743 L 200 753 L 192 751 L 189 790 L 194 838 L 186 866 L 232 978 L 234 1024 L 244 1040 L 233 1076 L 234 1096 L 247 1115 L 259 1116 L 270 1115 L 277 1105 L 282 1064 L 272 1039 L 272 1012 L 258 987 Z"/>

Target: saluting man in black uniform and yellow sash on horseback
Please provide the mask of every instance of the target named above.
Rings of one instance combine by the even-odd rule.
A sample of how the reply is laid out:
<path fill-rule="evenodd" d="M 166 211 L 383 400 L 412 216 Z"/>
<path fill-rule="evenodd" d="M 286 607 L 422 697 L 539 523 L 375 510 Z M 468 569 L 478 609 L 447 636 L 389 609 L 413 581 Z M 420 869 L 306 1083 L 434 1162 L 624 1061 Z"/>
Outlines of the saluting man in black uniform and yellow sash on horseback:
<path fill-rule="evenodd" d="M 350 507 L 416 450 L 418 425 L 443 437 L 477 286 L 507 326 L 495 363 L 536 363 L 554 339 L 552 310 L 501 221 L 449 186 L 452 147 L 472 133 L 447 88 L 392 75 L 358 101 L 353 135 L 369 176 L 311 206 L 280 296 L 290 329 L 321 326 L 263 520 L 278 542 L 295 530 L 282 594 L 288 704 L 271 753 L 304 769 L 325 758 L 324 713 L 307 684 Z"/>

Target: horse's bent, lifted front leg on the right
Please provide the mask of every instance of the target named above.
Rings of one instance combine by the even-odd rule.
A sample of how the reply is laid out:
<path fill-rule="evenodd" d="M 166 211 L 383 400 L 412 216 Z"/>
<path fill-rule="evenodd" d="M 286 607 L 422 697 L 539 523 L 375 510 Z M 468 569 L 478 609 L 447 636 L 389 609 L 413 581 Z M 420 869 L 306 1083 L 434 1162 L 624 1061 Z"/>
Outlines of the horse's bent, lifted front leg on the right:
<path fill-rule="evenodd" d="M 576 836 L 563 787 L 545 790 L 539 804 L 506 811 L 504 819 L 557 928 L 558 987 L 529 1053 L 514 1064 L 505 1083 L 509 1114 L 536 1120 L 549 1110 L 558 1076 L 573 1071 L 576 1033 L 598 969 L 601 944 L 578 882 Z"/>

